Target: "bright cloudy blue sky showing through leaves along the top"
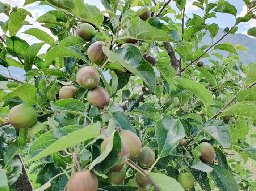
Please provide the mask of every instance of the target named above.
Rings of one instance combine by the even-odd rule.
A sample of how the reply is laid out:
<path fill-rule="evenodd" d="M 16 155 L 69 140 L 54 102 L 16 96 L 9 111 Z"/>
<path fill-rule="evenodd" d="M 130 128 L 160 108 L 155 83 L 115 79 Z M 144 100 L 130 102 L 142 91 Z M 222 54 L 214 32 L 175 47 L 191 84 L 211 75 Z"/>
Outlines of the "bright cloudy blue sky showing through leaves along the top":
<path fill-rule="evenodd" d="M 3 3 L 8 3 L 11 4 L 11 6 L 18 6 L 19 8 L 22 8 L 23 4 L 24 4 L 25 0 L 1 0 L 1 2 Z M 163 1 L 163 0 L 161 0 Z M 196 0 L 187 0 L 186 3 L 186 14 L 188 15 L 188 17 L 192 17 L 192 13 L 197 14 L 202 16 L 203 12 L 201 9 L 199 9 L 196 6 L 193 6 L 192 3 L 196 1 Z M 209 2 L 216 2 L 217 0 L 209 0 Z M 234 5 L 237 9 L 237 16 L 240 15 L 244 15 L 246 13 L 246 6 L 244 1 L 242 0 L 227 0 L 229 1 L 232 5 Z M 85 0 L 85 3 L 89 3 L 91 5 L 96 5 L 100 10 L 104 10 L 104 6 L 102 6 L 100 0 Z M 17 36 L 19 36 L 20 38 L 26 40 L 30 45 L 33 43 L 38 43 L 41 42 L 40 40 L 36 39 L 33 36 L 27 35 L 22 33 L 23 31 L 27 30 L 28 28 L 40 28 L 43 31 L 50 33 L 50 30 L 40 26 L 40 23 L 35 22 L 35 20 L 45 14 L 47 11 L 49 10 L 53 10 L 53 8 L 51 8 L 50 6 L 47 5 L 41 5 L 38 6 L 38 2 L 36 3 L 32 3 L 30 5 L 26 5 L 24 8 L 28 11 L 30 11 L 32 13 L 33 18 L 30 18 L 29 16 L 27 16 L 26 20 L 31 23 L 32 25 L 25 25 L 24 27 L 21 28 L 21 30 L 18 32 Z M 170 3 L 171 7 L 173 9 L 176 9 L 176 5 L 174 1 L 171 1 Z M 137 9 L 137 8 L 134 8 Z M 231 14 L 224 14 L 224 13 L 217 13 L 217 18 L 210 18 L 207 19 L 207 23 L 211 24 L 211 23 L 217 23 L 219 25 L 220 28 L 226 28 L 226 27 L 231 27 L 234 25 L 235 23 L 235 18 L 233 15 Z M 169 17 L 173 17 L 173 14 L 170 14 Z M 0 13 L 0 21 L 5 22 L 7 20 L 7 16 L 3 13 Z M 251 20 L 248 23 L 240 23 L 238 26 L 238 32 L 239 33 L 243 33 L 246 34 L 247 30 L 253 26 L 256 26 L 256 20 Z M 3 31 L 0 28 L 0 34 L 3 35 Z M 8 34 L 7 34 L 8 35 Z M 56 39 L 56 37 L 55 37 Z M 40 50 L 39 53 L 45 53 L 46 50 L 48 48 L 48 45 L 45 44 L 42 49 Z M 7 71 L 3 71 L 2 68 L 1 69 L 1 73 L 3 75 L 5 75 L 5 73 L 7 73 Z M 10 70 L 14 70 L 14 72 L 16 70 L 18 70 L 17 68 L 10 68 Z M 8 76 L 8 73 L 6 74 Z"/>

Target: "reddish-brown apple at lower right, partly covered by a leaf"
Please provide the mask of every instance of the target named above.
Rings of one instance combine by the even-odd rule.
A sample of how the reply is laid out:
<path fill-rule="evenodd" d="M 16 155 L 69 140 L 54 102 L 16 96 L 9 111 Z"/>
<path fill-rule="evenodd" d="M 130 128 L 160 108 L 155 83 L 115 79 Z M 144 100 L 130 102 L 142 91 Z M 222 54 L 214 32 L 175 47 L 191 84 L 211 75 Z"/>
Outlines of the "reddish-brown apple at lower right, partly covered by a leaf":
<path fill-rule="evenodd" d="M 213 163 L 214 159 L 216 158 L 216 153 L 210 143 L 202 142 L 196 147 L 196 149 L 201 152 L 200 160 L 203 163 Z"/>

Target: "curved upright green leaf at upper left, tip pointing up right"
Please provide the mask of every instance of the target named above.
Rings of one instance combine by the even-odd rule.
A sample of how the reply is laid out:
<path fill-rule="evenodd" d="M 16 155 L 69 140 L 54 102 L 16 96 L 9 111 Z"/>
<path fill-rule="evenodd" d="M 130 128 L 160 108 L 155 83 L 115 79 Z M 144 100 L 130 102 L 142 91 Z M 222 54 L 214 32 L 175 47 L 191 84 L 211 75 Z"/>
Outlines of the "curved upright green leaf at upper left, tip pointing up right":
<path fill-rule="evenodd" d="M 37 56 L 39 50 L 45 43 L 34 43 L 29 46 L 24 59 L 24 70 L 28 72 L 32 69 L 33 63 L 35 61 L 35 57 Z"/>

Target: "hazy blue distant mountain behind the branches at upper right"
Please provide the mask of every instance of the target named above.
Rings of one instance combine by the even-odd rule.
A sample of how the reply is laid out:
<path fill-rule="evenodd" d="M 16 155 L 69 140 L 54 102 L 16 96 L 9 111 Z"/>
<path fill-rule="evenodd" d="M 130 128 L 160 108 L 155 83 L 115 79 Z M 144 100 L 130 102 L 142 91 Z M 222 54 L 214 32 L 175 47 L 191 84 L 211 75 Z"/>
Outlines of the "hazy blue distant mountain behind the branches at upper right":
<path fill-rule="evenodd" d="M 202 43 L 200 43 L 200 46 L 202 45 L 211 45 L 212 39 L 210 37 L 210 32 L 206 31 L 207 34 L 203 37 Z M 213 43 L 215 43 L 217 40 L 219 40 L 224 35 L 223 29 L 220 28 L 218 34 L 214 37 Z M 248 37 L 247 35 L 237 33 L 237 34 L 228 34 L 226 37 L 224 37 L 223 40 L 220 41 L 219 44 L 229 42 L 233 46 L 236 44 L 241 44 L 245 46 L 248 50 L 248 52 L 244 50 L 238 50 L 238 56 L 240 57 L 240 61 L 244 63 L 245 65 L 248 65 L 249 63 L 255 62 L 256 63 L 256 39 L 252 39 Z M 221 53 L 223 55 L 223 59 L 225 59 L 228 56 L 228 52 L 223 50 L 214 50 L 213 52 Z M 211 52 L 211 53 L 213 53 Z M 204 58 L 205 61 L 208 61 L 209 59 L 213 58 Z M 214 57 L 214 60 L 218 60 L 217 57 Z"/>

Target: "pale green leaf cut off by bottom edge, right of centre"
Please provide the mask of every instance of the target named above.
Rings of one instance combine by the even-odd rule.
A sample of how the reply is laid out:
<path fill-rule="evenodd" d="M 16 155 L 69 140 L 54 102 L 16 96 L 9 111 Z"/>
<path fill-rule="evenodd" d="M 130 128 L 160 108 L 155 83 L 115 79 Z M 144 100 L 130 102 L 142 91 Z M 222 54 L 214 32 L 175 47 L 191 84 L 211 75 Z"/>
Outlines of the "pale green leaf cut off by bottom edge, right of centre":
<path fill-rule="evenodd" d="M 148 173 L 148 176 L 150 176 L 161 191 L 184 191 L 179 182 L 165 174 Z"/>

